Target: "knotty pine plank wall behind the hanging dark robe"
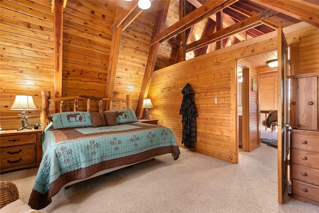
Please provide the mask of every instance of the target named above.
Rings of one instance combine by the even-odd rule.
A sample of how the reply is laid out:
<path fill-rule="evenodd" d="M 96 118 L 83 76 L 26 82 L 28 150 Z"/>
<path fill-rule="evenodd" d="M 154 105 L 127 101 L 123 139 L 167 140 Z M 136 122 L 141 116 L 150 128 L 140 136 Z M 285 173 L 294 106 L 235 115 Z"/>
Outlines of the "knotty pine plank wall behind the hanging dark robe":
<path fill-rule="evenodd" d="M 315 34 L 314 31 L 319 35 L 317 27 L 308 27 L 289 33 L 287 41 L 289 44 L 296 42 L 297 35 L 301 38 L 307 37 L 309 34 Z M 198 141 L 194 151 L 237 163 L 237 130 L 235 129 L 237 119 L 235 119 L 236 111 L 234 110 L 237 108 L 235 101 L 237 97 L 233 93 L 237 91 L 235 86 L 237 84 L 231 84 L 237 79 L 235 61 L 275 50 L 277 39 L 276 34 L 272 34 L 274 33 L 254 39 L 252 43 L 248 40 L 157 70 L 153 75 L 149 91 L 149 98 L 155 105 L 150 109 L 152 117 L 160 119 L 159 124 L 172 129 L 179 145 L 183 147 L 180 144 L 181 116 L 178 115 L 182 100 L 179 85 L 183 87 L 186 83 L 190 83 L 195 92 L 195 103 L 199 113 L 196 119 Z M 267 36 L 272 38 L 267 39 Z M 318 39 L 317 42 L 319 42 Z M 303 51 L 301 51 L 301 57 L 302 55 Z M 257 74 L 255 78 L 258 79 Z M 223 99 L 224 103 L 214 104 L 214 97 Z M 231 100 L 234 101 L 231 102 Z"/>

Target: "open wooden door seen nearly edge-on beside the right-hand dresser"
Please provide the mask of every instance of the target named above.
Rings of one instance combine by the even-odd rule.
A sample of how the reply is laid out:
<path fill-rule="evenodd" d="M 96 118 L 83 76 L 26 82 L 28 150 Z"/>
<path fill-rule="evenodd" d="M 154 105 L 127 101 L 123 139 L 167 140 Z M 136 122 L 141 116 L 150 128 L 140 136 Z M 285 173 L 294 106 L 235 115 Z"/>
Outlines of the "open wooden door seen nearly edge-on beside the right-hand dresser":
<path fill-rule="evenodd" d="M 282 204 L 288 182 L 288 45 L 278 29 L 278 203 Z"/>

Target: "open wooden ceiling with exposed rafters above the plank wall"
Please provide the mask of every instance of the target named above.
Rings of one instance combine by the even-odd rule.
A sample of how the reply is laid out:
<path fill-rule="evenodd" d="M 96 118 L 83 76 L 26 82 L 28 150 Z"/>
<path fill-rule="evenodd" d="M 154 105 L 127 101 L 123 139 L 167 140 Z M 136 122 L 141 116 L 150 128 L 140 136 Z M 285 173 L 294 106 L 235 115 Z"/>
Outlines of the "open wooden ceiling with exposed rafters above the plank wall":
<path fill-rule="evenodd" d="M 121 1 L 123 11 L 115 27 L 123 21 L 133 21 L 143 12 L 137 2 Z M 160 13 L 165 9 L 163 5 L 168 5 L 168 10 Z M 319 26 L 318 0 L 170 0 L 169 4 L 154 0 L 148 10 L 166 15 L 160 33 L 154 34 L 153 29 L 148 29 L 153 32 L 151 45 L 160 42 L 154 70 L 301 21 Z M 257 67 L 263 67 L 265 60 L 276 57 L 277 53 L 269 53 L 252 61 Z"/>

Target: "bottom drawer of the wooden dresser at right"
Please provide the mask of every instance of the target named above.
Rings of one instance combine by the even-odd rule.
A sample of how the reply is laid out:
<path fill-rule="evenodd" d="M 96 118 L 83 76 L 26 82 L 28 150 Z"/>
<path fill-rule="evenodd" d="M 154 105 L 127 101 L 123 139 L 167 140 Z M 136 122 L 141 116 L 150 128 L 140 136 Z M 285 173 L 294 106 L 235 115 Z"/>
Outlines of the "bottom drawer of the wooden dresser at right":
<path fill-rule="evenodd" d="M 319 187 L 297 180 L 293 180 L 293 195 L 299 195 L 301 197 L 319 202 Z"/>

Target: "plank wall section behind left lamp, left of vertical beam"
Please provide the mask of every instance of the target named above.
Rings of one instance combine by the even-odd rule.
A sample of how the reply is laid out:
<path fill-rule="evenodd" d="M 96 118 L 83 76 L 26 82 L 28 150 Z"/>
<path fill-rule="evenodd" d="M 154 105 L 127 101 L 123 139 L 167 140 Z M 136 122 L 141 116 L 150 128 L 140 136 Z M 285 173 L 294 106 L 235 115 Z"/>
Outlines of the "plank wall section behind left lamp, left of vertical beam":
<path fill-rule="evenodd" d="M 10 110 L 15 95 L 32 95 L 38 110 L 26 111 L 39 123 L 41 90 L 53 91 L 53 13 L 50 1 L 2 0 L 0 3 L 0 124 L 21 127 L 21 111 Z"/>

